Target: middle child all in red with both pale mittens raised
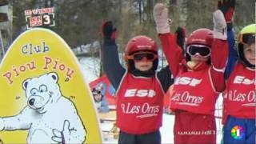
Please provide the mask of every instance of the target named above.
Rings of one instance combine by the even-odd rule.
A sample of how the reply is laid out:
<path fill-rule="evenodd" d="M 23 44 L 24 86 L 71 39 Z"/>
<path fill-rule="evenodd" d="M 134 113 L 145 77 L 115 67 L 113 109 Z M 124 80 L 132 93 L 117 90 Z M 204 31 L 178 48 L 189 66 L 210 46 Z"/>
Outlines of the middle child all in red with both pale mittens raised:
<path fill-rule="evenodd" d="M 170 70 L 174 74 L 175 143 L 216 143 L 214 118 L 218 92 L 223 90 L 228 55 L 226 21 L 222 11 L 214 12 L 214 30 L 194 30 L 186 41 L 186 56 L 170 34 L 168 10 L 154 6 L 154 21 Z M 224 58 L 220 58 L 220 54 Z"/>

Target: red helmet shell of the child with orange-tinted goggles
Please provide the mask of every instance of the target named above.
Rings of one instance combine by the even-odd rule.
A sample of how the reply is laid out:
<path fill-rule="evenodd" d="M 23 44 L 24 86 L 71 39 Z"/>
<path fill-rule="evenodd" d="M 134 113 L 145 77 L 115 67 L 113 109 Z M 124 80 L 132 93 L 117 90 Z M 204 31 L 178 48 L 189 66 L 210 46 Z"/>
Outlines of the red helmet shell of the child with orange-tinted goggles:
<path fill-rule="evenodd" d="M 137 51 L 152 51 L 158 54 L 157 43 L 152 38 L 146 37 L 145 35 L 138 35 L 131 38 L 126 45 L 125 54 L 134 54 Z"/>

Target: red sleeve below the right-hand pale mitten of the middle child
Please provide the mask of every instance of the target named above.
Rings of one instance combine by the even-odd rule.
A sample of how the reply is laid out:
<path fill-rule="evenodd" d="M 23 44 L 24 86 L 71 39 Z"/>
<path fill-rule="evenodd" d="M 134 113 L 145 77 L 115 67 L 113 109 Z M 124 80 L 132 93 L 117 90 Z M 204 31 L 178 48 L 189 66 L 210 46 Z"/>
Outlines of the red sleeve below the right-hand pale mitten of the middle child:
<path fill-rule="evenodd" d="M 214 88 L 218 92 L 225 90 L 224 70 L 228 58 L 228 42 L 221 39 L 214 39 L 212 44 L 210 76 Z"/>

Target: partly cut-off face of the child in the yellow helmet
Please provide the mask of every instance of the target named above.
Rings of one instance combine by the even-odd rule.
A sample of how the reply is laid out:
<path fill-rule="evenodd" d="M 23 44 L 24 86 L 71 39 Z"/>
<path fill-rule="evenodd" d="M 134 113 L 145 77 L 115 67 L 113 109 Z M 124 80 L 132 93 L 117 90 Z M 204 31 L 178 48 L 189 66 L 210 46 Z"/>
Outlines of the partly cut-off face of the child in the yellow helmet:
<path fill-rule="evenodd" d="M 245 54 L 245 58 L 251 65 L 255 65 L 255 43 L 250 45 L 243 45 L 243 53 Z"/>

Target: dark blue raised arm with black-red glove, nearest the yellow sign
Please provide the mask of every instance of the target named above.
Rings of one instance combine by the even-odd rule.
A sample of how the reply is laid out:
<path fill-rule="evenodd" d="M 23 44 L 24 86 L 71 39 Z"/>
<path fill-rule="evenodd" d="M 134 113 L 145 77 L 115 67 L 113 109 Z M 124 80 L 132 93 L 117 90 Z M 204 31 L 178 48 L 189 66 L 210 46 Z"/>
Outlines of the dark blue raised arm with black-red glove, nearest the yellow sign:
<path fill-rule="evenodd" d="M 121 66 L 118 57 L 118 46 L 115 43 L 116 29 L 112 22 L 102 23 L 102 65 L 106 76 L 110 79 L 114 89 L 117 90 L 126 70 Z"/>

